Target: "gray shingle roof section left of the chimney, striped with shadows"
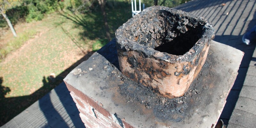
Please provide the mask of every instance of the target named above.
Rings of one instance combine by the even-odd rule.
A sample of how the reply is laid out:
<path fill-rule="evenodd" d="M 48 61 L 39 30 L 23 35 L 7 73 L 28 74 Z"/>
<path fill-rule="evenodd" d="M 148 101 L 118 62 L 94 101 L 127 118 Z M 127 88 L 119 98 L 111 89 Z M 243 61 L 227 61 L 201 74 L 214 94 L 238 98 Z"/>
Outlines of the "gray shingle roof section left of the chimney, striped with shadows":
<path fill-rule="evenodd" d="M 59 98 L 60 96 L 60 98 Z M 52 103 L 55 102 L 55 103 Z M 64 102 L 64 103 L 63 103 Z M 41 106 L 40 106 L 41 105 Z M 74 106 L 74 107 L 70 107 Z M 55 109 L 56 108 L 56 109 Z M 69 111 L 67 112 L 66 109 Z M 64 121 L 64 118 L 69 125 Z M 73 122 L 73 123 L 72 123 Z M 1 126 L 7 127 L 84 127 L 76 105 L 64 83 Z"/>

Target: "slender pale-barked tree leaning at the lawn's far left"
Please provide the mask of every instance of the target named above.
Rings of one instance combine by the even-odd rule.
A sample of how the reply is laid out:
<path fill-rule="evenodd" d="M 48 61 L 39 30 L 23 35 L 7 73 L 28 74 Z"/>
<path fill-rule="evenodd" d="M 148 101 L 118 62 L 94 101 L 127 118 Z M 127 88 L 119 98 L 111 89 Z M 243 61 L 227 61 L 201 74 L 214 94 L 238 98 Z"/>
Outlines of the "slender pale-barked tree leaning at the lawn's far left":
<path fill-rule="evenodd" d="M 11 7 L 12 5 L 10 4 L 10 2 L 12 2 L 12 0 L 0 0 L 0 13 L 3 15 L 4 19 L 6 20 L 7 24 L 9 25 L 9 27 L 12 30 L 12 34 L 13 36 L 17 36 L 11 21 L 9 20 L 9 18 L 7 17 L 7 15 L 5 14 L 6 10 L 8 7 Z"/>

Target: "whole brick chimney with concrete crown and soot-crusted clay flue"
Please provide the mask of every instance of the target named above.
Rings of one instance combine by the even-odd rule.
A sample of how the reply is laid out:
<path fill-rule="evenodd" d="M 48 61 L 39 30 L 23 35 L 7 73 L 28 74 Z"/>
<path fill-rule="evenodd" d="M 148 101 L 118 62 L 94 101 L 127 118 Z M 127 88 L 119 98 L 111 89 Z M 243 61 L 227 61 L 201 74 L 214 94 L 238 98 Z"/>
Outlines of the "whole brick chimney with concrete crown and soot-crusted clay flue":
<path fill-rule="evenodd" d="M 244 53 L 213 37 L 179 10 L 135 15 L 64 79 L 85 127 L 214 127 Z"/>

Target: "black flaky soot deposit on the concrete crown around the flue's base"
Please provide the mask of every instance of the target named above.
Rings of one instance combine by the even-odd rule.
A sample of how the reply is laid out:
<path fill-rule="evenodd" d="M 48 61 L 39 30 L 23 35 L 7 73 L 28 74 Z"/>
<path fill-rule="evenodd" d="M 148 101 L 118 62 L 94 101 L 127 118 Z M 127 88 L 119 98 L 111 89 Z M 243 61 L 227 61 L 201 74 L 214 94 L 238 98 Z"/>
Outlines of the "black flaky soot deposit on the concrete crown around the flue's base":
<path fill-rule="evenodd" d="M 190 116 L 188 115 L 189 111 L 195 111 L 198 106 L 206 105 L 201 104 L 203 101 L 209 101 L 208 104 L 212 102 L 212 99 L 202 99 L 200 97 L 202 92 L 213 91 L 209 90 L 207 83 L 204 83 L 202 80 L 206 75 L 209 77 L 212 76 L 211 63 L 214 63 L 213 59 L 210 60 L 207 58 L 201 72 L 192 82 L 188 91 L 184 96 L 178 98 L 170 99 L 163 97 L 158 94 L 157 89 L 135 83 L 123 75 L 121 76 L 121 80 L 124 81 L 124 84 L 118 85 L 119 93 L 125 97 L 126 102 L 139 102 L 146 109 L 153 109 L 154 115 L 163 121 L 180 122 Z"/>

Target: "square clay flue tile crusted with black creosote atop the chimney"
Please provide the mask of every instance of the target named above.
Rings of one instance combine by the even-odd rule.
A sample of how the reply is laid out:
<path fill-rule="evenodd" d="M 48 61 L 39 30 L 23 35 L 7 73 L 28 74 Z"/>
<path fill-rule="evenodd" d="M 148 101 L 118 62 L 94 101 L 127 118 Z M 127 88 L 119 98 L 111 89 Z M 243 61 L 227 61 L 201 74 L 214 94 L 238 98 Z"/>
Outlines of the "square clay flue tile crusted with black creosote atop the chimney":
<path fill-rule="evenodd" d="M 116 30 L 122 73 L 161 95 L 184 95 L 214 38 L 211 23 L 187 12 L 152 6 Z"/>

